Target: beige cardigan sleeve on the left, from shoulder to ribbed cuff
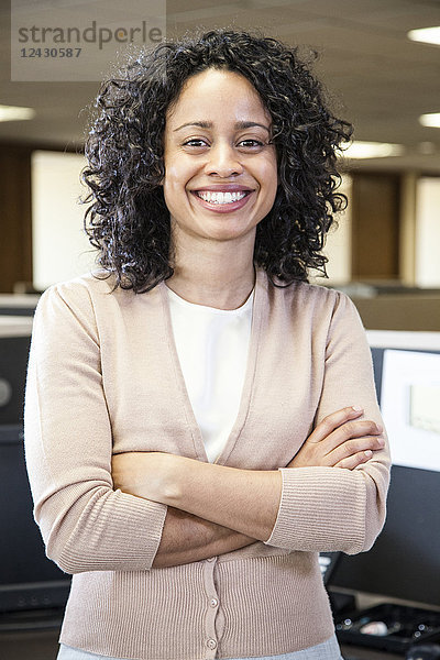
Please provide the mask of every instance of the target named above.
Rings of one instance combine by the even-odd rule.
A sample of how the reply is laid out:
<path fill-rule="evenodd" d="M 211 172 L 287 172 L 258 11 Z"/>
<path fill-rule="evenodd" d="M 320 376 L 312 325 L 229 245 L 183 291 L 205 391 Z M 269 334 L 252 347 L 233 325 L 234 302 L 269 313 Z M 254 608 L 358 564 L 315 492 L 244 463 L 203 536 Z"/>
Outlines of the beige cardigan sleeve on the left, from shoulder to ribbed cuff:
<path fill-rule="evenodd" d="M 34 319 L 24 438 L 34 516 L 67 573 L 150 569 L 166 506 L 113 491 L 112 431 L 87 287 L 52 287 Z"/>

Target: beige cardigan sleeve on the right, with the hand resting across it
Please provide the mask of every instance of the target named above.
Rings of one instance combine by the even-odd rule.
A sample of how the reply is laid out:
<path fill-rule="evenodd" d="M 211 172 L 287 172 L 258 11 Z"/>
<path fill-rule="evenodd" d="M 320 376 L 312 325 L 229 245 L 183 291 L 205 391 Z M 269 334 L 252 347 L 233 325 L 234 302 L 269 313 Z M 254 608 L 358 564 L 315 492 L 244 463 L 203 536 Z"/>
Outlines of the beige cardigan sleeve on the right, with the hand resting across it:
<path fill-rule="evenodd" d="M 315 425 L 352 405 L 362 406 L 365 419 L 383 426 L 364 328 L 350 298 L 336 293 Z M 386 443 L 352 471 L 282 468 L 282 498 L 266 543 L 289 550 L 341 550 L 349 554 L 369 550 L 385 520 L 389 463 Z"/>

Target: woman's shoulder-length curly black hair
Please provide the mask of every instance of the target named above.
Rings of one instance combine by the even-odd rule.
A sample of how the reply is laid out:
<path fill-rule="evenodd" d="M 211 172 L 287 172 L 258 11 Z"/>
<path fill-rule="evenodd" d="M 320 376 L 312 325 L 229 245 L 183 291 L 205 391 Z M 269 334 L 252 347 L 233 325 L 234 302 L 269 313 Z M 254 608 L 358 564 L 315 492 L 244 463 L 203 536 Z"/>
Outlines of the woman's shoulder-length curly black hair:
<path fill-rule="evenodd" d="M 98 263 L 116 287 L 151 290 L 173 275 L 170 221 L 163 195 L 163 134 L 167 110 L 185 81 L 208 68 L 244 76 L 273 121 L 278 189 L 258 223 L 254 263 L 278 286 L 326 275 L 321 254 L 333 215 L 346 205 L 336 193 L 337 150 L 351 125 L 328 108 L 321 84 L 280 42 L 232 30 L 161 43 L 102 84 L 86 142 L 89 187 L 85 228 Z"/>

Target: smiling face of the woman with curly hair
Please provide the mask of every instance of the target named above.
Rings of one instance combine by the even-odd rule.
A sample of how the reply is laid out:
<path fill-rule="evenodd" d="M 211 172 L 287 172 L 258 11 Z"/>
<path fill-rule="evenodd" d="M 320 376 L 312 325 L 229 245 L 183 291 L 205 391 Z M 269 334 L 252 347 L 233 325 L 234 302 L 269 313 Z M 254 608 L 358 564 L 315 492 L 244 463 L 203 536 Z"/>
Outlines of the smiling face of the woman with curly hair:
<path fill-rule="evenodd" d="M 255 240 L 277 188 L 271 117 L 243 76 L 207 69 L 189 78 L 165 127 L 165 201 L 174 241 Z"/>

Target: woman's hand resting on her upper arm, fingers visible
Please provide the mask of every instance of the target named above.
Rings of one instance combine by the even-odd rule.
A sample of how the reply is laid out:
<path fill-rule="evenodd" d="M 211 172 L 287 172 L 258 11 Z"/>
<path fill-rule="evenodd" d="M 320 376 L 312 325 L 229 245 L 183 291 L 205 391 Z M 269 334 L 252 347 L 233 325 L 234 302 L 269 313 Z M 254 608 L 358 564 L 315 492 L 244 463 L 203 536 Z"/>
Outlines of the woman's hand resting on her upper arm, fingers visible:
<path fill-rule="evenodd" d="M 329 415 L 307 438 L 287 468 L 329 466 L 354 470 L 384 448 L 383 429 L 374 421 L 356 418 L 362 409 L 342 408 Z"/>

